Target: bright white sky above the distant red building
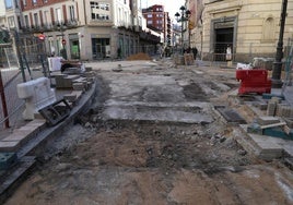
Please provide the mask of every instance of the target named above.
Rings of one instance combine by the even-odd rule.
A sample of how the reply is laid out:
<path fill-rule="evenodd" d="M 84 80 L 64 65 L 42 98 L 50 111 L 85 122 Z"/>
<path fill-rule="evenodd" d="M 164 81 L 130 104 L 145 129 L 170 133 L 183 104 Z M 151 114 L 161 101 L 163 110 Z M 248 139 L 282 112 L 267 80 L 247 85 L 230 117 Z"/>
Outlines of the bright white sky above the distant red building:
<path fill-rule="evenodd" d="M 164 5 L 165 12 L 169 12 L 169 16 L 174 19 L 176 12 L 179 12 L 179 8 L 184 5 L 185 0 L 141 0 L 142 8 L 146 8 L 153 4 Z"/>

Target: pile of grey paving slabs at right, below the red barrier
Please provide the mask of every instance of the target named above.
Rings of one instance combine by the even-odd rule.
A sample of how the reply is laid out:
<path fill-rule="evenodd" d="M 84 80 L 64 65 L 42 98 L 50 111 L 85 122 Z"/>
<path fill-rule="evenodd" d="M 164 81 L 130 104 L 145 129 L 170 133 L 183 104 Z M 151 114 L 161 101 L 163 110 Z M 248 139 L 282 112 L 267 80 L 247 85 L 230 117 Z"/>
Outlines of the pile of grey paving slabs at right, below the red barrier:
<path fill-rule="evenodd" d="M 283 96 L 268 96 L 247 102 L 256 117 L 239 124 L 235 138 L 257 157 L 268 161 L 284 158 L 293 168 L 293 108 Z"/>

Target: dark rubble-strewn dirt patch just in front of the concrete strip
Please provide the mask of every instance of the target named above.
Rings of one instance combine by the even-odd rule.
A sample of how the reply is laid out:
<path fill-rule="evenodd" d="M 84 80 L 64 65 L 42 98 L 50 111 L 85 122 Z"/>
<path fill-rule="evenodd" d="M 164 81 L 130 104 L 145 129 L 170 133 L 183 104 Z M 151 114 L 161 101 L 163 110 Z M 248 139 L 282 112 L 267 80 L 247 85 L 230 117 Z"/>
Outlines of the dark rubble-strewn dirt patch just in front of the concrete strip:
<path fill-rule="evenodd" d="M 96 126 L 101 128 L 101 126 Z M 213 133 L 209 125 L 112 121 L 89 141 L 66 153 L 79 166 L 220 170 L 243 166 L 248 158 L 228 136 L 228 130 Z M 78 156 L 77 156 L 78 155 Z M 212 169 L 212 170 L 210 170 Z"/>

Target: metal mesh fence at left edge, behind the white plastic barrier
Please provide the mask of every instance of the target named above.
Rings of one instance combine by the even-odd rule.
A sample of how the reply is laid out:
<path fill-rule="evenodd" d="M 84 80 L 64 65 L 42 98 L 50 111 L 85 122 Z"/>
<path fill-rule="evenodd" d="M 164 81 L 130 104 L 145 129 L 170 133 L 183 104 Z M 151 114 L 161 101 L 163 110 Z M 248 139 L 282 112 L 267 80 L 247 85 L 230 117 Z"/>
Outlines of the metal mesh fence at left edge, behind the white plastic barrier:
<path fill-rule="evenodd" d="M 31 67 L 40 64 L 42 46 L 34 36 L 14 34 L 15 48 L 0 47 L 0 128 L 14 126 L 22 118 L 24 101 L 16 86 L 32 79 Z M 38 74 L 39 75 L 39 74 Z"/>

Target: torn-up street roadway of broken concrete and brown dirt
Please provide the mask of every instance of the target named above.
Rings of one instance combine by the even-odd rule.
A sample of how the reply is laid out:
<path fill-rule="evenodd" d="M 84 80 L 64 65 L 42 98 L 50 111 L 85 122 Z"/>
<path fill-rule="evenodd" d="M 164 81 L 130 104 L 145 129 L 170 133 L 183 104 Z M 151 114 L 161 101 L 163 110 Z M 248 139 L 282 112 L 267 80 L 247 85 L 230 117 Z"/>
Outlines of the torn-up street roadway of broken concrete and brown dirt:
<path fill-rule="evenodd" d="M 232 96 L 234 69 L 171 60 L 89 65 L 95 102 L 44 147 L 7 205 L 293 204 L 292 171 L 246 152 L 234 138 L 238 125 L 214 109 L 254 120 Z"/>

